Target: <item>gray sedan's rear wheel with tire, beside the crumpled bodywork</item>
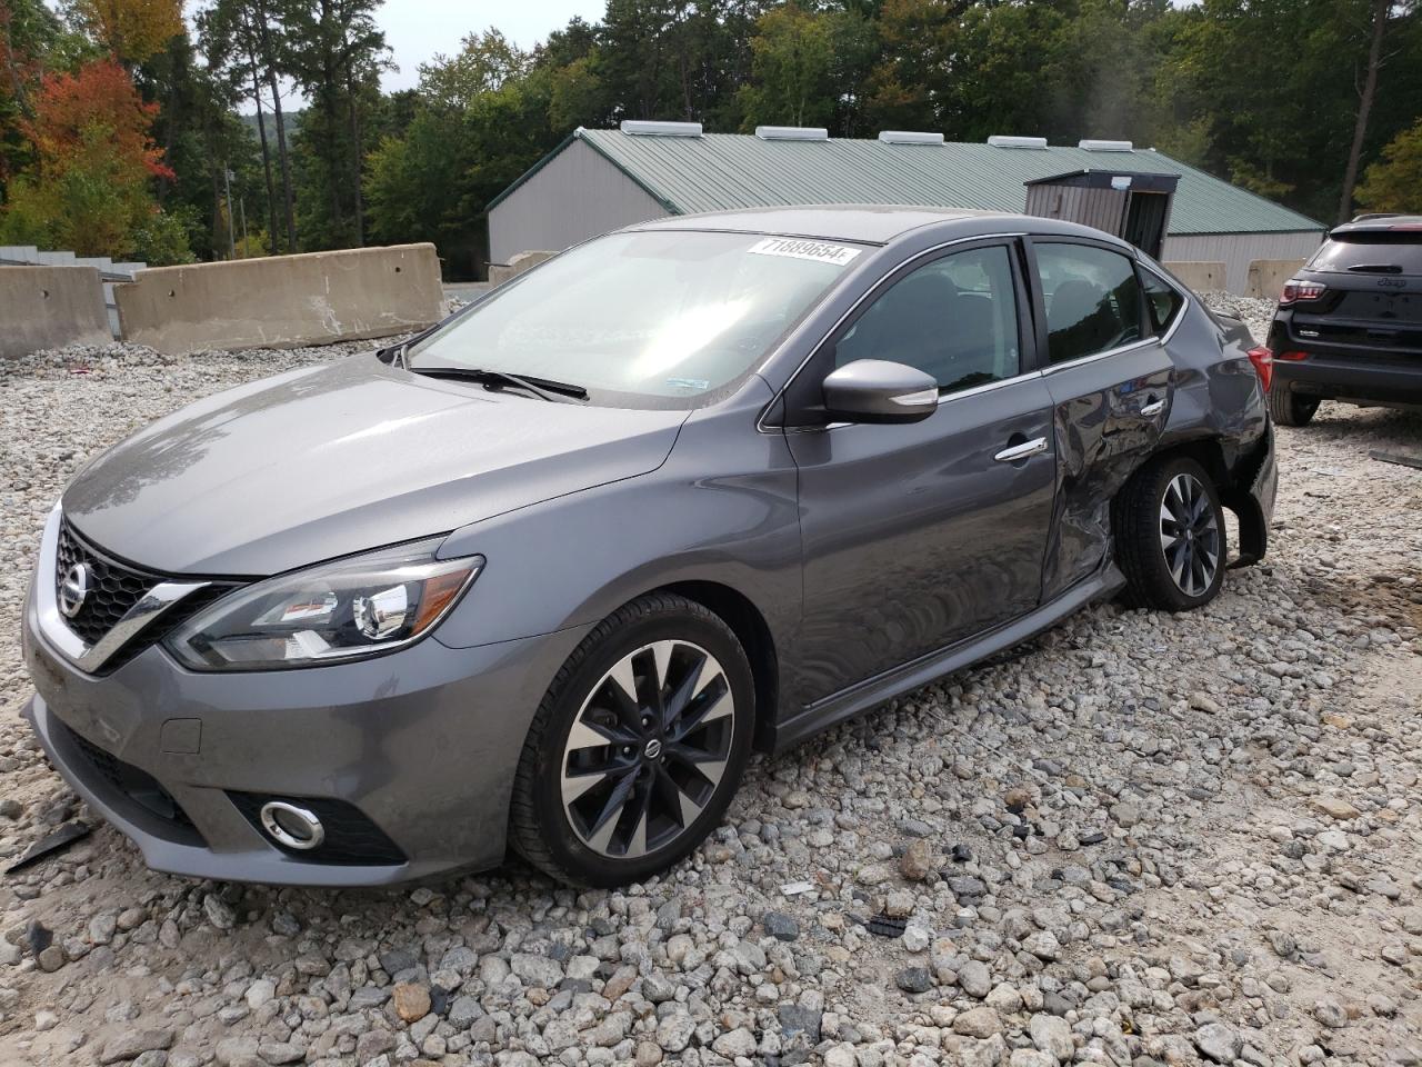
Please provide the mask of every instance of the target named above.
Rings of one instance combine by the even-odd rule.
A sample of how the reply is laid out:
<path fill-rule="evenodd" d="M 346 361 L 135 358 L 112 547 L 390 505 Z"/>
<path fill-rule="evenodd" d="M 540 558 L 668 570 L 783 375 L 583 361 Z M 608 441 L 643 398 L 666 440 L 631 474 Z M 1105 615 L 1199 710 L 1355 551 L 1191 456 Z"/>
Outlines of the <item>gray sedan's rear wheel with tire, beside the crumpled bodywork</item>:
<path fill-rule="evenodd" d="M 1219 595 L 1224 511 L 1194 460 L 1162 457 L 1136 471 L 1112 505 L 1112 525 L 1129 605 L 1187 612 Z"/>

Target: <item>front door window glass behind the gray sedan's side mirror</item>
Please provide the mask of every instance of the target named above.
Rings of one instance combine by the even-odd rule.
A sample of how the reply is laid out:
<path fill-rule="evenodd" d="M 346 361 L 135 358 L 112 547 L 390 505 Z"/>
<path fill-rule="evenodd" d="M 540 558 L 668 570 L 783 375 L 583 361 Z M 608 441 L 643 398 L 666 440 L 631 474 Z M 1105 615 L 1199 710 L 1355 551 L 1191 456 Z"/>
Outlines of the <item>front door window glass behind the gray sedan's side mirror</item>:
<path fill-rule="evenodd" d="M 835 363 L 892 360 L 944 391 L 1021 371 L 1012 263 L 1001 245 L 956 252 L 894 282 L 835 346 Z"/>

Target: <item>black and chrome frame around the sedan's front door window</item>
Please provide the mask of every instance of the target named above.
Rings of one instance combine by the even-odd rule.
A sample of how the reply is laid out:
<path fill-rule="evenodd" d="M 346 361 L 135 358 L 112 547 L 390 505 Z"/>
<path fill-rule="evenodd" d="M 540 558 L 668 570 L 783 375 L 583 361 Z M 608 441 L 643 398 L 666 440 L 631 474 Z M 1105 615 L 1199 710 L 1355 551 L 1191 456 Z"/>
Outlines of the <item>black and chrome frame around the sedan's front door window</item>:
<path fill-rule="evenodd" d="M 1017 302 L 1017 334 L 1018 334 L 1018 368 L 1020 374 L 1010 378 L 1001 378 L 1000 381 L 985 381 L 981 386 L 974 386 L 971 388 L 958 390 L 956 393 L 939 393 L 939 404 L 941 405 L 946 400 L 954 400 L 957 397 L 978 396 L 987 393 L 991 388 L 1000 386 L 1007 386 L 1010 383 L 1021 381 L 1024 378 L 1037 377 L 1039 370 L 1037 368 L 1037 331 L 1035 322 L 1031 313 L 1032 289 L 1027 277 L 1027 272 L 1018 252 L 1024 243 L 1024 238 L 1028 235 L 1024 232 L 1011 233 L 981 233 L 973 238 L 957 238 L 956 240 L 946 240 L 941 245 L 934 245 L 933 248 L 923 249 L 914 253 L 909 259 L 896 263 L 894 266 L 884 270 L 873 285 L 870 285 L 859 297 L 845 310 L 839 319 L 835 320 L 833 326 L 825 331 L 815 346 L 811 349 L 809 354 L 801 361 L 799 367 L 786 378 L 785 384 L 776 391 L 775 397 L 762 408 L 759 418 L 755 421 L 755 428 L 759 432 L 802 432 L 802 431 L 823 431 L 823 430 L 838 430 L 846 425 L 857 425 L 855 423 L 829 423 L 825 425 L 789 425 L 782 421 L 779 425 L 766 424 L 769 414 L 779 405 L 789 408 L 789 393 L 795 383 L 799 380 L 805 368 L 812 363 L 819 360 L 828 347 L 832 347 L 850 326 L 859 322 L 859 317 L 873 306 L 873 303 L 883 296 L 892 286 L 894 286 L 900 279 L 907 277 L 919 267 L 934 263 L 947 256 L 956 255 L 958 252 L 971 252 L 974 248 L 1004 248 L 1008 253 L 1008 266 L 1012 272 L 1012 296 Z"/>

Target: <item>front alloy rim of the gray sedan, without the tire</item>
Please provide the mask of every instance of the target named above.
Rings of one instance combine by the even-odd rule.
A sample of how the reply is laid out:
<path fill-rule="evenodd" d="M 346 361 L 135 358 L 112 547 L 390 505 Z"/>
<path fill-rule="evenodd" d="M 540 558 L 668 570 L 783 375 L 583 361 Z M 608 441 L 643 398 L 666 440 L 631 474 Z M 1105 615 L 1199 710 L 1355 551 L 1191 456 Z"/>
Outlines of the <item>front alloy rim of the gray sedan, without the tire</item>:
<path fill-rule="evenodd" d="M 599 855 L 634 859 L 680 838 L 731 757 L 735 701 L 698 644 L 643 646 L 603 674 L 563 748 L 563 811 Z"/>

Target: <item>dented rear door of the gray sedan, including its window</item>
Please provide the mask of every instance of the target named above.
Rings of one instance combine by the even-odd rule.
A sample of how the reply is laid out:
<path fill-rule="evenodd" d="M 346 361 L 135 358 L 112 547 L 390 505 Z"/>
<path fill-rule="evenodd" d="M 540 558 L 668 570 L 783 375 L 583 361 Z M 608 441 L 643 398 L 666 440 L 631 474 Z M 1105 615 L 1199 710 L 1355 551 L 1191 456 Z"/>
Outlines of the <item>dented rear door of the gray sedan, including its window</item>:
<path fill-rule="evenodd" d="M 1076 238 L 1030 242 L 1038 351 L 1052 400 L 1057 495 L 1042 598 L 1089 578 L 1111 552 L 1111 501 L 1155 450 L 1175 364 L 1135 260 Z"/>

